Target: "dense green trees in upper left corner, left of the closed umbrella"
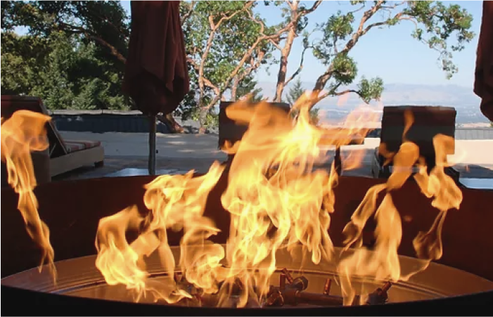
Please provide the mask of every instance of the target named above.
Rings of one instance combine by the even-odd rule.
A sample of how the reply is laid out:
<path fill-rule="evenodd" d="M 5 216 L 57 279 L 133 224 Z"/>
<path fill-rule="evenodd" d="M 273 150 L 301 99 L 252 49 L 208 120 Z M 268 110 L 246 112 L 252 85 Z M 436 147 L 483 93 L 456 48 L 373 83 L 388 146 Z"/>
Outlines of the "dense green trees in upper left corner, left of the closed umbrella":
<path fill-rule="evenodd" d="M 13 27 L 28 34 L 15 37 Z M 128 36 L 120 1 L 2 1 L 2 93 L 40 96 L 52 109 L 128 110 Z"/>

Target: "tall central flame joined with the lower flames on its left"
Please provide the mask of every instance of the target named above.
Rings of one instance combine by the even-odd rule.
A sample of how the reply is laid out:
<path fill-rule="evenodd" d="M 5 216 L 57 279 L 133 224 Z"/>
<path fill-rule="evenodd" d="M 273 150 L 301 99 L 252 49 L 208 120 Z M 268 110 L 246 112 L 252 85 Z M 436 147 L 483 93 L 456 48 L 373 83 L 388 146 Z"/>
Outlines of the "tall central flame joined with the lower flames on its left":
<path fill-rule="evenodd" d="M 338 175 L 334 168 L 328 172 L 316 165 L 327 160 L 328 150 L 321 145 L 348 144 L 361 128 L 315 127 L 309 116 L 311 96 L 307 93 L 295 103 L 299 113 L 294 124 L 290 114 L 269 103 L 252 107 L 238 102 L 227 108 L 228 117 L 249 124 L 249 129 L 240 142 L 224 148 L 235 155 L 222 195 L 222 205 L 231 214 L 225 249 L 207 240 L 218 229 L 203 216 L 205 198 L 224 167 L 215 163 L 196 178 L 191 173 L 160 176 L 147 186 L 147 216 L 131 208 L 101 220 L 96 265 L 106 281 L 127 285 L 138 297 L 146 292 L 167 302 L 191 297 L 172 279 L 176 260 L 167 242 L 169 228 L 184 230 L 179 268 L 186 280 L 206 293 L 218 292 L 219 306 L 231 305 L 230 286 L 238 280 L 242 287 L 237 306 L 265 295 L 281 248 L 301 244 L 315 264 L 330 260 L 328 228 Z M 125 234 L 139 228 L 139 238 L 129 244 Z M 143 257 L 155 250 L 167 272 L 166 285 L 153 284 L 143 267 Z"/>

